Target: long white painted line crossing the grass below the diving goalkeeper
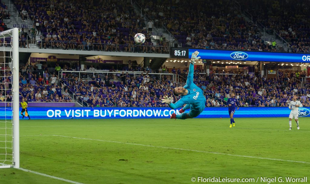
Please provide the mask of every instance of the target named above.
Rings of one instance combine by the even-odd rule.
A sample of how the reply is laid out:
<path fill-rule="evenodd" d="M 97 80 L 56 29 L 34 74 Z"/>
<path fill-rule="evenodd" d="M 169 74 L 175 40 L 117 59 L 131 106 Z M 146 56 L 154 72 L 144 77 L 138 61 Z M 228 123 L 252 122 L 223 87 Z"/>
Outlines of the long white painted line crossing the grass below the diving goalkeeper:
<path fill-rule="evenodd" d="M 153 148 L 166 148 L 166 149 L 175 149 L 175 150 L 183 150 L 183 151 L 190 151 L 190 152 L 201 152 L 201 153 L 210 153 L 210 154 L 217 154 L 217 155 L 239 156 L 239 157 L 245 157 L 245 158 L 257 158 L 257 159 L 264 159 L 264 160 L 276 160 L 276 161 L 310 164 L 310 162 L 296 161 L 296 160 L 282 160 L 282 159 L 276 159 L 276 158 L 265 158 L 265 157 L 257 157 L 257 156 L 233 155 L 233 154 L 228 154 L 228 153 L 207 152 L 207 151 L 199 151 L 199 150 L 191 150 L 191 149 L 183 149 L 183 148 L 170 148 L 170 147 L 164 147 L 164 146 L 152 146 L 152 145 L 135 144 L 135 143 L 123 143 L 123 142 L 118 142 L 118 141 L 70 137 L 70 136 L 64 136 L 64 135 L 46 135 L 46 136 L 57 136 L 57 137 L 66 137 L 66 138 L 74 138 L 74 139 L 95 140 L 95 141 L 103 141 L 103 142 L 110 142 L 110 143 L 122 143 L 122 144 L 138 145 L 138 146 L 147 146 L 147 147 L 153 147 Z"/>

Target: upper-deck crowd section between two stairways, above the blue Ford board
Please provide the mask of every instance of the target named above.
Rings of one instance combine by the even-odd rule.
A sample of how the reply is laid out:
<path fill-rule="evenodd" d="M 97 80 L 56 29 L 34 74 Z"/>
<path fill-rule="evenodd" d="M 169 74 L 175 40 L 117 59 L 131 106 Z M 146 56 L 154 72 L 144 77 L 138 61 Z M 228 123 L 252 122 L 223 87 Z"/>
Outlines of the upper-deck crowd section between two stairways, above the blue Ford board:
<path fill-rule="evenodd" d="M 183 47 L 277 51 L 275 45 L 264 43 L 256 25 L 243 19 L 231 1 L 139 2 L 155 24 L 165 24 Z"/>

